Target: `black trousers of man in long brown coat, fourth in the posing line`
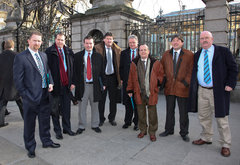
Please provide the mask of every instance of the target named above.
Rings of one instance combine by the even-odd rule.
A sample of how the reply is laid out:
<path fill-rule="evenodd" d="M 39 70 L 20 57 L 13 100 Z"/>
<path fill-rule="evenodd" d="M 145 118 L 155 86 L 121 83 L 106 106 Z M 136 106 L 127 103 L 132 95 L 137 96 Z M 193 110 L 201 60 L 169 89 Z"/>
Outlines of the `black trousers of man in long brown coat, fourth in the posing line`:
<path fill-rule="evenodd" d="M 108 92 L 108 97 L 109 97 L 109 115 L 108 115 L 108 120 L 109 121 L 114 121 L 116 117 L 116 112 L 117 112 L 117 76 L 116 74 L 112 75 L 106 75 L 106 89 L 102 93 L 102 98 L 99 101 L 98 104 L 98 109 L 99 109 L 99 117 L 100 117 L 100 122 L 105 121 L 104 117 L 104 112 L 105 112 L 105 102 L 106 102 L 106 97 L 107 97 L 107 92 Z"/>

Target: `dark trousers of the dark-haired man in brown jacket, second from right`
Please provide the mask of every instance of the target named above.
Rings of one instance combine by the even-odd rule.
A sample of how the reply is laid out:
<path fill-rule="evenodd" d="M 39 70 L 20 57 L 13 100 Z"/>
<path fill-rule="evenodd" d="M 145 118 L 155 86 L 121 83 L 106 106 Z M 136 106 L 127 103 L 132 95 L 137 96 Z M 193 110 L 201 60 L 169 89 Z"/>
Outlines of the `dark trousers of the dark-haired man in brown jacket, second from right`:
<path fill-rule="evenodd" d="M 166 96 L 167 113 L 166 113 L 165 131 L 169 133 L 174 133 L 176 100 L 178 102 L 178 108 L 179 108 L 179 123 L 180 123 L 179 133 L 181 136 L 185 136 L 188 134 L 188 128 L 189 128 L 187 98 L 178 97 L 174 95 Z"/>

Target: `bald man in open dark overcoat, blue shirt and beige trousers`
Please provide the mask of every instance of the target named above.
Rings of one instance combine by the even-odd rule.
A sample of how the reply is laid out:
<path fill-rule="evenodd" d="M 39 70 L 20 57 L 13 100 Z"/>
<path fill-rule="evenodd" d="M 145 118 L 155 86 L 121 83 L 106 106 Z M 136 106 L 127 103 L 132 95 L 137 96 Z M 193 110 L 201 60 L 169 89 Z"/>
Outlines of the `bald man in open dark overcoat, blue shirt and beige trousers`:
<path fill-rule="evenodd" d="M 200 49 L 194 56 L 189 93 L 189 111 L 197 112 L 202 126 L 195 145 L 212 144 L 212 116 L 217 120 L 221 154 L 230 156 L 231 132 L 228 123 L 230 91 L 236 86 L 237 64 L 228 48 L 213 45 L 209 31 L 200 35 Z"/>

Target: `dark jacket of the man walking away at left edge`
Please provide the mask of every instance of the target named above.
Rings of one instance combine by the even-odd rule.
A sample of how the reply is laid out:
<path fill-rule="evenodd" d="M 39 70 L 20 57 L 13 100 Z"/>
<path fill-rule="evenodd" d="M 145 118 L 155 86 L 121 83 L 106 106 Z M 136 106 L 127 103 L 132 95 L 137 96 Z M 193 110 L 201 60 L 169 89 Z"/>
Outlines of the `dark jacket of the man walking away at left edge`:
<path fill-rule="evenodd" d="M 13 61 L 16 53 L 5 50 L 0 54 L 0 96 L 11 101 L 17 99 L 18 93 L 13 83 Z"/>

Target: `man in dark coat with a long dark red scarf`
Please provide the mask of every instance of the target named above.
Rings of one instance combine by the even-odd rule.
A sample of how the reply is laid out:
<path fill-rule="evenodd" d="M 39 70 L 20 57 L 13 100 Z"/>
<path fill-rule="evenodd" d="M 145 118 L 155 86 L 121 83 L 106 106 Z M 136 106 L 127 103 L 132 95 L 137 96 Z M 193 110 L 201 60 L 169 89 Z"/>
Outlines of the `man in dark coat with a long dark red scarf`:
<path fill-rule="evenodd" d="M 52 121 L 57 139 L 63 139 L 59 122 L 62 114 L 63 133 L 74 136 L 71 130 L 71 91 L 73 76 L 73 51 L 65 45 L 65 36 L 58 33 L 55 43 L 46 50 L 48 65 L 53 77 L 53 91 L 51 92 Z M 60 105 L 60 106 L 59 106 Z"/>

